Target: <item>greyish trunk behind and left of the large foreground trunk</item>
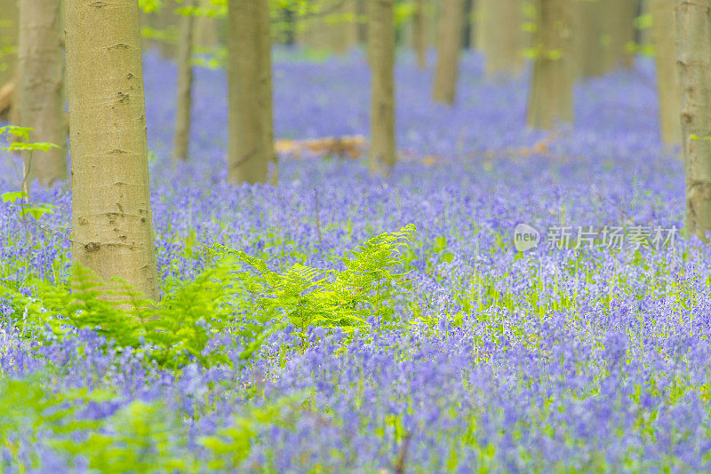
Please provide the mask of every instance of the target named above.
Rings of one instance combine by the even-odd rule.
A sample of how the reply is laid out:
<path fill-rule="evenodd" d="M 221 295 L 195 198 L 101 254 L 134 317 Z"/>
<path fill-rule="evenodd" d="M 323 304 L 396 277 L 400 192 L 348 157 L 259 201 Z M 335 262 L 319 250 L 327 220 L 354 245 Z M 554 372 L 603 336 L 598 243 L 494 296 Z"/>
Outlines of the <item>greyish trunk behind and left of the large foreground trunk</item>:
<path fill-rule="evenodd" d="M 51 186 L 67 178 L 67 117 L 64 114 L 64 51 L 60 2 L 22 0 L 18 47 L 19 124 L 32 127 L 30 142 L 52 142 L 59 148 L 25 152 L 28 183 Z"/>

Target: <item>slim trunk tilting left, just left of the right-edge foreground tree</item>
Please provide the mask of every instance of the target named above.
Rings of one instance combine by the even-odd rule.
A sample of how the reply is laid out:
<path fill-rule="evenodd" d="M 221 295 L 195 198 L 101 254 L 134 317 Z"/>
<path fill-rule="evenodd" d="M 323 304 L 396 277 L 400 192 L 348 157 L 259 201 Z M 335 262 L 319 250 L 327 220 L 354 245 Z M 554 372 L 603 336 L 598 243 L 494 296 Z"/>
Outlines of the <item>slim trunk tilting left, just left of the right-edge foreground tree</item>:
<path fill-rule="evenodd" d="M 659 125 L 665 143 L 681 142 L 679 75 L 676 71 L 676 26 L 673 0 L 651 0 L 652 35 L 657 60 Z"/>

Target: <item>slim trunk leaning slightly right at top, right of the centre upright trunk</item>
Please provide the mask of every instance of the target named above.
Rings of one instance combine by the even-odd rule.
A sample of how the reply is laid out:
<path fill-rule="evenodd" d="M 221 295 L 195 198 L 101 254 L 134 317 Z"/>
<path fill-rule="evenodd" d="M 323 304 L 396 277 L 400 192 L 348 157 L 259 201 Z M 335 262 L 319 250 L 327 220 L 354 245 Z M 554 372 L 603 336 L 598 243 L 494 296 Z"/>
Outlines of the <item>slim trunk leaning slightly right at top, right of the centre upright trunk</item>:
<path fill-rule="evenodd" d="M 464 2 L 444 0 L 437 45 L 437 67 L 433 98 L 445 104 L 454 103 L 457 86 L 461 28 L 464 21 Z"/>

